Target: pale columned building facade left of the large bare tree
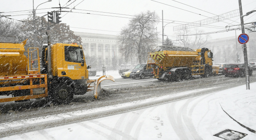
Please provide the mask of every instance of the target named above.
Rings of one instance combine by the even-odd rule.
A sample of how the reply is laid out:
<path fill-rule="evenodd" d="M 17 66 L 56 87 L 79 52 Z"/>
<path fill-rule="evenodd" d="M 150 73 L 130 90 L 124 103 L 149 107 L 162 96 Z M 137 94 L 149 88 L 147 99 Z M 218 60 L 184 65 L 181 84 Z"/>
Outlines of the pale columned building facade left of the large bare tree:
<path fill-rule="evenodd" d="M 114 56 L 119 57 L 117 35 L 74 32 L 82 38 L 84 55 L 98 58 L 99 64 L 111 64 Z"/>

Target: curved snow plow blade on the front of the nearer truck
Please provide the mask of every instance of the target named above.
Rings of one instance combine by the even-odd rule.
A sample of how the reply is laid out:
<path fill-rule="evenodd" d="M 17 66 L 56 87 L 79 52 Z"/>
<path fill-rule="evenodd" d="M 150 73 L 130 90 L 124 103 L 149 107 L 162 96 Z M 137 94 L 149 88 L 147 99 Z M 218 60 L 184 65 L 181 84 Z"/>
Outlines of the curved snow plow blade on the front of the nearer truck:
<path fill-rule="evenodd" d="M 99 97 L 99 94 L 101 92 L 101 86 L 100 86 L 100 83 L 103 81 L 103 80 L 112 80 L 113 82 L 115 82 L 115 78 L 112 77 L 112 76 L 101 76 L 99 77 L 99 79 L 96 80 L 96 82 L 94 83 L 94 98 L 98 98 Z"/>

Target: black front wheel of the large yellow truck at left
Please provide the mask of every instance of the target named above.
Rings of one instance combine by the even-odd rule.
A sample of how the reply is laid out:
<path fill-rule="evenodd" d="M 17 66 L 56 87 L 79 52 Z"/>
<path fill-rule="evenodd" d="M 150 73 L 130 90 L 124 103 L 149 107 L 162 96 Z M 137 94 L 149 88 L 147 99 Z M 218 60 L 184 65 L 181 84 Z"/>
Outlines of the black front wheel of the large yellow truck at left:
<path fill-rule="evenodd" d="M 74 92 L 73 88 L 66 85 L 65 83 L 59 83 L 55 84 L 55 87 L 53 87 L 51 98 L 54 103 L 58 104 L 68 104 L 73 99 Z"/>

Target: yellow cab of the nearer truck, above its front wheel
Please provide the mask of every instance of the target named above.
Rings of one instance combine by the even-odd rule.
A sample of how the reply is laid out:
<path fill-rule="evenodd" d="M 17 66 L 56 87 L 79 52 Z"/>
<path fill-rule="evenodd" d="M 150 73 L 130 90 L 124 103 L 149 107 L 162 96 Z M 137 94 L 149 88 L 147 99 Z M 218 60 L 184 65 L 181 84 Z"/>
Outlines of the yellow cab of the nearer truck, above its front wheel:
<path fill-rule="evenodd" d="M 70 85 L 74 94 L 80 95 L 86 93 L 88 70 L 84 60 L 82 46 L 75 43 L 55 43 L 51 45 L 51 49 L 52 83 L 62 81 Z M 42 74 L 46 74 L 48 71 L 47 50 L 47 46 L 43 46 Z"/>

